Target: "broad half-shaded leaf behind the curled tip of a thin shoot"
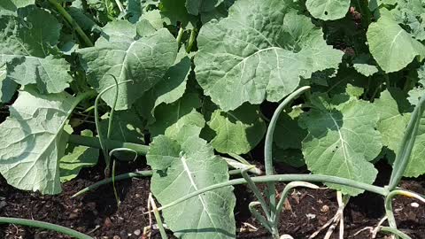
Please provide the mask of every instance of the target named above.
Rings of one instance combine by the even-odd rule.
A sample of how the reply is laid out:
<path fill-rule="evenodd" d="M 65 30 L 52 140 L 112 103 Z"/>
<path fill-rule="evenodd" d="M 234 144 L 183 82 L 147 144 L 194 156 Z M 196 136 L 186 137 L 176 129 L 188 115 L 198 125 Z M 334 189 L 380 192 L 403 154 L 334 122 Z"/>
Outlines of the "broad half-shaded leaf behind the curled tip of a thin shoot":
<path fill-rule="evenodd" d="M 127 110 L 160 81 L 177 55 L 177 42 L 166 28 L 138 40 L 135 32 L 135 26 L 128 22 L 112 22 L 104 29 L 107 36 L 95 47 L 79 50 L 89 83 L 97 91 L 115 83 L 110 74 L 118 81 L 133 81 L 120 85 L 117 110 Z M 112 105 L 114 96 L 110 90 L 102 98 Z"/>

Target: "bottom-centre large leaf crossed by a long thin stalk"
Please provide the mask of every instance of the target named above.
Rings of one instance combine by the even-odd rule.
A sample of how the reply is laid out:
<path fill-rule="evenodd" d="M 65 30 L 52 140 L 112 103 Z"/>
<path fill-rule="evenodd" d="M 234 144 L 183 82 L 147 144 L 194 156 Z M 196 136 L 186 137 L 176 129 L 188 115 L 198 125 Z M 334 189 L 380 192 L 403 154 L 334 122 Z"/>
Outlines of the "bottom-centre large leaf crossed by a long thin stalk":
<path fill-rule="evenodd" d="M 160 204 L 216 183 L 228 181 L 226 162 L 199 138 L 201 127 L 182 125 L 173 135 L 159 135 L 146 156 L 156 173 L 151 191 Z M 183 239 L 236 238 L 233 187 L 215 189 L 163 211 L 166 225 Z"/>

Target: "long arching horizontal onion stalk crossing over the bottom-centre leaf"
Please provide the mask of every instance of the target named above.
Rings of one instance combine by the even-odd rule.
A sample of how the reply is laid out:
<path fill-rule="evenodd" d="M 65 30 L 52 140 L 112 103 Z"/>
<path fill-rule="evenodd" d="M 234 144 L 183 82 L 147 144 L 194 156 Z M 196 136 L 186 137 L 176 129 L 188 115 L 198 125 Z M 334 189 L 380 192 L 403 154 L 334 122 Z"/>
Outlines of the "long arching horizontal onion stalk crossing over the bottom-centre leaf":
<path fill-rule="evenodd" d="M 363 189 L 367 190 L 379 195 L 382 195 L 386 197 L 390 191 L 388 189 L 384 189 L 382 187 L 378 187 L 375 185 L 370 185 L 364 182 L 360 181 L 352 181 L 345 178 L 340 178 L 336 176 L 328 176 L 328 175 L 320 175 L 320 174 L 277 174 L 277 175 L 270 175 L 270 176 L 259 176 L 259 177 L 252 177 L 251 180 L 253 182 L 257 183 L 267 183 L 267 182 L 278 182 L 278 181 L 310 181 L 310 182 L 324 182 L 324 183 L 334 183 L 339 184 L 347 187 L 352 187 L 355 189 Z M 183 201 L 188 200 L 191 197 L 197 197 L 198 195 L 205 193 L 207 191 L 211 191 L 214 189 L 220 189 L 232 185 L 239 185 L 239 184 L 245 184 L 247 181 L 244 179 L 235 179 L 230 181 L 224 181 L 221 183 L 217 183 L 211 186 L 208 186 L 204 189 L 199 189 L 195 192 L 189 193 L 188 195 L 181 197 L 174 202 L 170 204 L 163 205 L 160 209 L 165 209 L 171 206 L 174 206 L 175 204 L 180 204 Z"/>

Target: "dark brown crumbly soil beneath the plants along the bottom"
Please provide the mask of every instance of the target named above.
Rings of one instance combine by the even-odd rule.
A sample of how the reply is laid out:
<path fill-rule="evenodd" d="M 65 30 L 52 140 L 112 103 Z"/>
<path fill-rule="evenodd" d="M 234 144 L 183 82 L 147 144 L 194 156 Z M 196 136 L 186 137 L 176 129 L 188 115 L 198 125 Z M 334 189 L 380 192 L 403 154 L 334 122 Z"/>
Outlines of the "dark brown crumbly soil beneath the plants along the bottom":
<path fill-rule="evenodd" d="M 130 163 L 128 166 L 121 164 L 119 167 L 120 173 L 145 168 L 141 163 Z M 384 168 L 380 172 L 389 172 L 389 168 L 381 167 Z M 299 170 L 297 171 L 299 173 Z M 384 183 L 387 176 L 380 175 L 377 183 Z M 150 225 L 150 220 L 143 212 L 147 211 L 150 181 L 133 179 L 118 182 L 117 189 L 121 200 L 119 207 L 111 185 L 89 192 L 83 197 L 71 198 L 75 192 L 101 179 L 102 166 L 84 169 L 79 179 L 65 183 L 64 192 L 59 196 L 41 196 L 38 193 L 19 191 L 8 186 L 4 179 L 0 179 L 0 216 L 48 221 L 72 227 L 95 238 L 148 238 L 143 237 L 143 228 Z M 278 187 L 279 191 L 282 191 L 283 186 Z M 425 194 L 423 179 L 403 181 L 401 186 Z M 235 192 L 237 238 L 270 238 L 267 231 L 250 215 L 248 204 L 255 200 L 251 191 L 245 186 L 238 186 Z M 395 201 L 398 226 L 412 238 L 425 238 L 425 206 L 416 208 L 412 203 L 413 200 L 408 198 L 397 198 Z M 290 195 L 289 204 L 285 207 L 286 210 L 281 217 L 281 232 L 294 238 L 308 238 L 334 216 L 337 209 L 336 193 L 328 189 L 294 190 Z M 371 238 L 369 231 L 355 234 L 364 227 L 375 227 L 383 217 L 383 198 L 363 194 L 352 198 L 344 212 L 345 238 Z M 141 234 L 135 235 L 135 232 Z M 337 229 L 332 238 L 337 238 L 336 235 Z M 384 235 L 379 236 L 378 238 L 385 238 Z M 44 230 L 8 225 L 0 226 L 0 238 L 69 237 Z M 153 230 L 151 238 L 160 238 L 158 231 Z M 323 238 L 323 235 L 318 235 L 317 238 Z"/>

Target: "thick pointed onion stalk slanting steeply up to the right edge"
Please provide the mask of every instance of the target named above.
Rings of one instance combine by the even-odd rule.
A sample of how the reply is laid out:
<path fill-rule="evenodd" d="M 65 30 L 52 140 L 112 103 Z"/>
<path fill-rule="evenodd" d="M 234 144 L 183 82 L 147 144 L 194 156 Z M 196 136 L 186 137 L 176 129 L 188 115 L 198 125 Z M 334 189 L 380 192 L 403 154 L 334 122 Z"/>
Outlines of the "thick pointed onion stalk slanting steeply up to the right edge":
<path fill-rule="evenodd" d="M 418 134 L 424 109 L 425 96 L 422 96 L 419 104 L 417 104 L 414 108 L 409 125 L 406 128 L 406 133 L 403 136 L 402 143 L 400 144 L 396 160 L 392 166 L 393 171 L 391 173 L 390 183 L 388 185 L 388 189 L 390 191 L 396 189 L 398 182 L 401 180 L 403 174 L 406 171 L 407 164 L 409 163 L 409 159 L 412 155 L 414 142 L 416 140 L 416 135 Z"/>

